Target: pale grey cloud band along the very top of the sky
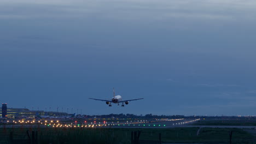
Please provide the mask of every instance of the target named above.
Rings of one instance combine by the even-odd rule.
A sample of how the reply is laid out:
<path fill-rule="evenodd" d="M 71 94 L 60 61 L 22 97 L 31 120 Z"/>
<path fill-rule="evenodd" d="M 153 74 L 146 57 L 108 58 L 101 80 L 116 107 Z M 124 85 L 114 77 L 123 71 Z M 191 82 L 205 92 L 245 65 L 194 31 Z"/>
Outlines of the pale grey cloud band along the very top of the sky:
<path fill-rule="evenodd" d="M 55 7 L 52 7 L 55 6 Z M 15 9 L 22 7 L 24 9 Z M 38 8 L 45 8 L 46 11 Z M 237 20 L 255 19 L 254 1 L 82 1 L 82 0 L 46 0 L 46 1 L 15 1 L 4 0 L 0 5 L 0 18 L 10 19 L 26 17 L 83 17 L 86 14 L 100 14 L 97 16 L 106 19 L 119 20 L 171 20 L 179 19 L 199 19 L 199 20 Z M 34 9 L 33 9 L 34 8 Z M 3 9 L 9 9 L 3 12 Z M 48 9 L 48 10 L 47 10 Z M 51 9 L 49 11 L 49 9 Z M 27 11 L 27 13 L 24 13 Z M 62 13 L 59 13 L 62 12 Z M 65 13 L 63 13 L 65 12 Z M 12 13 L 12 14 L 9 14 Z M 75 15 L 72 15 L 75 14 Z"/>

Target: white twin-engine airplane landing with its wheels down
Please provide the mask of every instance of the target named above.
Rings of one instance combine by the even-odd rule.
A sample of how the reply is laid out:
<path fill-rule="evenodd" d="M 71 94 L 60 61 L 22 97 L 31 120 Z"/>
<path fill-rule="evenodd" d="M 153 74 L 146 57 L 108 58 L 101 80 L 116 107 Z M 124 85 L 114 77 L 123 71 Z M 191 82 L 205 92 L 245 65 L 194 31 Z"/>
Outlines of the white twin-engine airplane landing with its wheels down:
<path fill-rule="evenodd" d="M 94 98 L 89 98 L 89 99 L 94 99 Z M 139 99 L 143 99 L 143 98 L 139 98 Z M 94 99 L 94 100 L 106 101 L 106 104 L 108 106 L 112 106 L 111 103 L 118 104 L 118 105 L 119 105 L 119 103 L 122 103 L 121 106 L 124 106 L 124 103 L 127 105 L 127 104 L 129 104 L 129 101 L 139 100 L 139 99 L 122 100 L 121 95 L 115 95 L 115 91 L 113 88 L 113 98 L 112 99 Z"/>

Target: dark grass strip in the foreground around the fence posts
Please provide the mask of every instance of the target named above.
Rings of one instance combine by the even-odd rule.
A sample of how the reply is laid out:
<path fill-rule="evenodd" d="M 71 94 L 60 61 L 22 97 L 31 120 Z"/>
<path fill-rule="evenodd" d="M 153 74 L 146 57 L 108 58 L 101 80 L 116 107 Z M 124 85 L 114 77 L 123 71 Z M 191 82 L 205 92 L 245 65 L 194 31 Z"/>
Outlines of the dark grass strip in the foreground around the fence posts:
<path fill-rule="evenodd" d="M 131 143 L 131 131 L 141 131 L 140 140 L 158 140 L 161 133 L 162 143 L 229 143 L 232 131 L 232 143 L 256 143 L 247 131 L 228 128 L 8 128 L 1 129 L 0 143 L 32 139 L 32 131 L 38 143 Z"/>

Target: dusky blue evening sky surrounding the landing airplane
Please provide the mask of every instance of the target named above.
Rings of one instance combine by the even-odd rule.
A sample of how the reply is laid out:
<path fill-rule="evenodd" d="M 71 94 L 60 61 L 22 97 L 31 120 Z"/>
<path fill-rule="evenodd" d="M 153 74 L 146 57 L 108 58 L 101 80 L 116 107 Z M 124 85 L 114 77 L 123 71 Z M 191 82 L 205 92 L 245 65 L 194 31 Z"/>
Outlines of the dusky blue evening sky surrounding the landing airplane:
<path fill-rule="evenodd" d="M 254 0 L 1 0 L 0 103 L 256 115 Z M 108 107 L 112 89 L 131 101 Z M 58 108 L 59 107 L 59 108 Z"/>

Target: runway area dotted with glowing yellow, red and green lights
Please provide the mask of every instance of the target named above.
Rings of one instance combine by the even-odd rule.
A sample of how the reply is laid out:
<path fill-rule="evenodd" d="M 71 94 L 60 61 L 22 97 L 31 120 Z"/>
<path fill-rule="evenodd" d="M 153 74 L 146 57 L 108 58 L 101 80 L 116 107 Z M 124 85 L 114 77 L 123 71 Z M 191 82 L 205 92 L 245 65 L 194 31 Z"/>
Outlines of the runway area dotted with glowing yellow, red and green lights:
<path fill-rule="evenodd" d="M 1 123 L 0 128 L 173 128 L 180 127 L 182 125 L 188 125 L 200 119 L 129 119 L 129 121 L 109 120 L 100 121 L 84 121 L 78 122 L 73 120 L 72 122 L 66 121 L 8 121 Z"/>

